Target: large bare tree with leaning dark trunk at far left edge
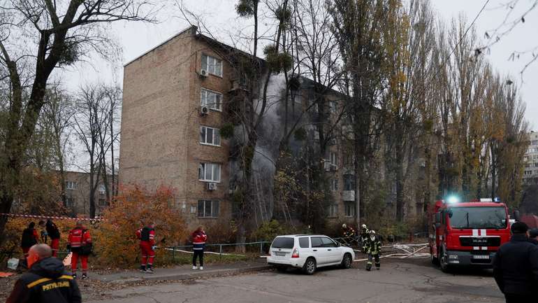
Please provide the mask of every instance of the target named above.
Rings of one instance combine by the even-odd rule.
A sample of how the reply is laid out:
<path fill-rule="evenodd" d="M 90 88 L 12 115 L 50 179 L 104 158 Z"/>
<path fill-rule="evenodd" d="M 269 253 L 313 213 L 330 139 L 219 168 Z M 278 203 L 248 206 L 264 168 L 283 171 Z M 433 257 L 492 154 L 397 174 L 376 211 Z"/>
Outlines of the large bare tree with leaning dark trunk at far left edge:
<path fill-rule="evenodd" d="M 0 62 L 8 71 L 10 111 L 0 155 L 0 212 L 9 213 L 29 140 L 45 103 L 54 69 L 89 51 L 116 55 L 106 24 L 154 21 L 157 6 L 145 0 L 10 0 L 1 3 Z M 159 2 L 162 3 L 162 2 Z M 35 66 L 35 67 L 32 67 Z M 24 95 L 28 93 L 28 98 Z M 0 241 L 7 218 L 0 218 Z"/>

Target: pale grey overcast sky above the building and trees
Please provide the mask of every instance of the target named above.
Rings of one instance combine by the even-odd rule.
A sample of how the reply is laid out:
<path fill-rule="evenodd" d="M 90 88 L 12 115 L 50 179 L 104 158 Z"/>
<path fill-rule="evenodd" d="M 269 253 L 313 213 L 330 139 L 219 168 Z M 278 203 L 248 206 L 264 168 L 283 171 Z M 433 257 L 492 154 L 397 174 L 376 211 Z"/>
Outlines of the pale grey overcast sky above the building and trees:
<path fill-rule="evenodd" d="M 516 10 L 523 11 L 535 0 L 520 0 Z M 184 6 L 195 13 L 203 15 L 205 24 L 216 33 L 215 36 L 230 43 L 230 34 L 237 34 L 240 29 L 248 26 L 249 22 L 235 17 L 237 0 L 184 0 Z M 507 0 L 490 0 L 484 12 L 479 16 L 476 27 L 480 38 L 484 33 L 497 28 L 504 20 L 507 10 L 502 5 Z M 482 0 L 432 0 L 437 15 L 448 24 L 452 17 L 459 13 L 467 15 L 471 22 L 479 13 L 486 1 Z M 514 12 L 514 17 L 518 14 Z M 78 64 L 72 71 L 64 72 L 62 78 L 67 81 L 68 88 L 75 90 L 86 81 L 108 81 L 122 84 L 123 64 L 154 48 L 189 24 L 182 20 L 177 10 L 166 10 L 159 13 L 159 24 L 136 22 L 117 22 L 112 25 L 110 34 L 117 37 L 123 48 L 122 62 L 110 64 L 98 56 L 92 56 L 90 64 Z M 520 14 L 521 15 L 521 14 Z M 527 104 L 526 117 L 531 123 L 531 129 L 538 130 L 538 62 L 532 64 L 523 73 L 523 66 L 530 60 L 530 54 L 514 62 L 509 57 L 514 50 L 529 50 L 538 46 L 538 8 L 525 18 L 525 23 L 519 24 L 508 36 L 493 45 L 490 53 L 486 54 L 493 67 L 498 71 L 510 74 L 514 82 L 521 87 L 521 95 Z M 538 52 L 537 52 L 538 55 Z"/>

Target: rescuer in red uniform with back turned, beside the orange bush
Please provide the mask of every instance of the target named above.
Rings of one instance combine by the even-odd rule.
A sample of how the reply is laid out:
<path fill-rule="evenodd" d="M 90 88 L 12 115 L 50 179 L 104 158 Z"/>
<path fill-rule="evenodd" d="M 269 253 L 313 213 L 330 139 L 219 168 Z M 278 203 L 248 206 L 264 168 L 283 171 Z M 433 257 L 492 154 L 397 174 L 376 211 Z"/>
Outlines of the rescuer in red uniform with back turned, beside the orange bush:
<path fill-rule="evenodd" d="M 77 278 L 77 263 L 80 258 L 82 265 L 82 279 L 88 278 L 88 255 L 92 253 L 92 237 L 89 231 L 78 221 L 77 225 L 69 232 L 68 251 L 71 251 L 71 271 L 73 279 Z"/>

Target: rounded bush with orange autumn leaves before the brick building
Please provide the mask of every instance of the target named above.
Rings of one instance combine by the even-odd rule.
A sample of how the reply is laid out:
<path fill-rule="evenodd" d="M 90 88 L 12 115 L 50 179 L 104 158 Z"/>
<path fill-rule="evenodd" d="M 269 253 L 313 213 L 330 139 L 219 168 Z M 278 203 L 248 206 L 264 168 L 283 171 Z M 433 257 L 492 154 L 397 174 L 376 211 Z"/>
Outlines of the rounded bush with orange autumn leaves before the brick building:
<path fill-rule="evenodd" d="M 95 232 L 98 262 L 113 267 L 138 265 L 140 253 L 136 230 L 143 227 L 144 222 L 153 222 L 160 247 L 156 251 L 155 264 L 162 264 L 168 253 L 163 247 L 179 244 L 187 237 L 180 211 L 170 207 L 174 200 L 173 189 L 165 186 L 154 192 L 138 186 L 120 188 L 120 194 L 104 211 L 104 220 Z"/>

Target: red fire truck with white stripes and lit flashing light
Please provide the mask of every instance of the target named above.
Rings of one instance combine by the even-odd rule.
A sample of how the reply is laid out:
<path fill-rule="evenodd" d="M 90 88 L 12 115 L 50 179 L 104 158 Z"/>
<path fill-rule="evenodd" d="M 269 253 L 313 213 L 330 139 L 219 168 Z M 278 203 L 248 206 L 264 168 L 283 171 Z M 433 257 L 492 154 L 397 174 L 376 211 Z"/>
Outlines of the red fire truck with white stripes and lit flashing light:
<path fill-rule="evenodd" d="M 491 267 L 493 255 L 510 239 L 507 206 L 492 199 L 435 202 L 428 211 L 432 262 L 451 267 Z"/>

